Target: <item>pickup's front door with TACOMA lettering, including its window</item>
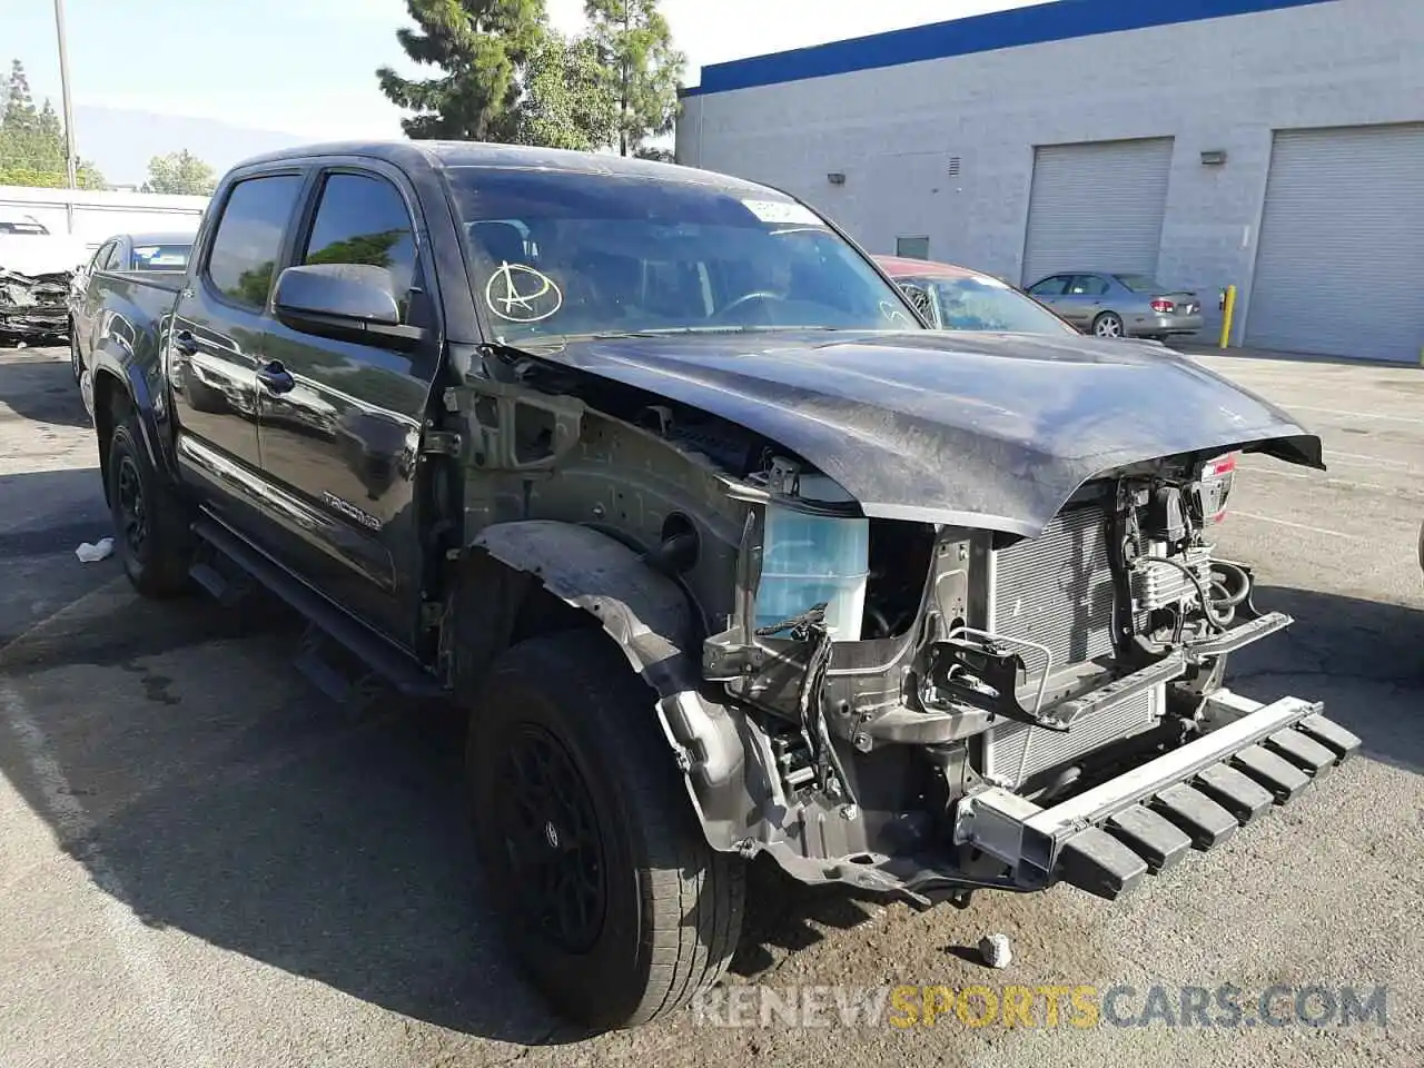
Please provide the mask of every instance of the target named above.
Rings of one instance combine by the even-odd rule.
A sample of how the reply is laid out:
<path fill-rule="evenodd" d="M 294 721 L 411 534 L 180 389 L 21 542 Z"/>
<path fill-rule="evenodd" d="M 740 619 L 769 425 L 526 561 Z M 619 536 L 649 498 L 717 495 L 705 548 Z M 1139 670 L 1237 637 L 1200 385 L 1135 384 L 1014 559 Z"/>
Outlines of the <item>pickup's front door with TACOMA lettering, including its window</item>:
<path fill-rule="evenodd" d="M 292 263 L 387 268 L 402 322 L 437 326 L 417 199 L 373 161 L 325 168 Z M 402 299 L 403 298 L 403 299 Z M 273 322 L 269 367 L 289 384 L 261 397 L 262 466 L 285 551 L 328 597 L 409 644 L 420 604 L 416 460 L 440 356 L 439 329 L 414 353 L 299 333 Z"/>

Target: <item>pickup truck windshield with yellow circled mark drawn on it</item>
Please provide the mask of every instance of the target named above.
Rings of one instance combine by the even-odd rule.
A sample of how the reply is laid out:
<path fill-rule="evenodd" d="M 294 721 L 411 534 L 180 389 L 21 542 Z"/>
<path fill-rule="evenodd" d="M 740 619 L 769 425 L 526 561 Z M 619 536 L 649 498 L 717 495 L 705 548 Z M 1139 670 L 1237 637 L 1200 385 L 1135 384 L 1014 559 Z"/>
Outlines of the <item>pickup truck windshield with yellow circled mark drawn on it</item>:
<path fill-rule="evenodd" d="M 691 330 L 917 330 L 904 296 L 773 192 L 457 167 L 474 293 L 504 340 Z"/>

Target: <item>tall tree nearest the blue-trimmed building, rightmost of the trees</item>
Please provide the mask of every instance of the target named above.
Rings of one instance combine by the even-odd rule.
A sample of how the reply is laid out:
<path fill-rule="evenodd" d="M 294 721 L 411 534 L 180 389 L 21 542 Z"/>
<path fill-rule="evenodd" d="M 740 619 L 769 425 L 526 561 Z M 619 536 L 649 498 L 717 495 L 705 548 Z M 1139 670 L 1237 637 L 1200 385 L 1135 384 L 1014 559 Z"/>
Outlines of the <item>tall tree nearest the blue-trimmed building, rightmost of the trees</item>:
<path fill-rule="evenodd" d="M 672 130 L 686 57 L 672 47 L 672 30 L 658 0 L 584 0 L 590 37 L 618 103 L 618 151 Z"/>

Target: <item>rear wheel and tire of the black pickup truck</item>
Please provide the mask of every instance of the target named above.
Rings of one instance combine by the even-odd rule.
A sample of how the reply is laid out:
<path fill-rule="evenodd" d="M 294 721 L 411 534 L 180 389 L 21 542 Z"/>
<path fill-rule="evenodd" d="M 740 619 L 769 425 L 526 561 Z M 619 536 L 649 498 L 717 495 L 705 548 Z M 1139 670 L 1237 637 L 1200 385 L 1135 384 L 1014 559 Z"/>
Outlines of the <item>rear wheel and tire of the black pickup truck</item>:
<path fill-rule="evenodd" d="M 140 594 L 155 600 L 178 597 L 191 588 L 188 508 L 148 461 L 132 412 L 115 412 L 114 419 L 108 446 L 114 547 L 128 581 Z"/>

